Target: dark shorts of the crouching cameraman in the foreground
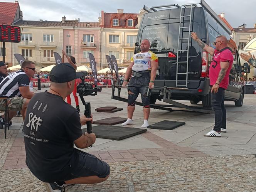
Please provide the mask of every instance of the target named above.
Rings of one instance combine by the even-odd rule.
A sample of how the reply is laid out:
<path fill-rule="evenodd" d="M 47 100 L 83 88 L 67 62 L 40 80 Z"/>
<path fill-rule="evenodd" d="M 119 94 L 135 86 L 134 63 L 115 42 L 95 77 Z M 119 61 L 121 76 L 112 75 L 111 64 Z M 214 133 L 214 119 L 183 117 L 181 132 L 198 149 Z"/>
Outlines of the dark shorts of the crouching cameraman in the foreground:
<path fill-rule="evenodd" d="M 71 174 L 65 180 L 76 179 L 79 177 L 98 176 L 105 178 L 110 173 L 108 163 L 99 160 L 94 155 L 75 149 Z"/>

